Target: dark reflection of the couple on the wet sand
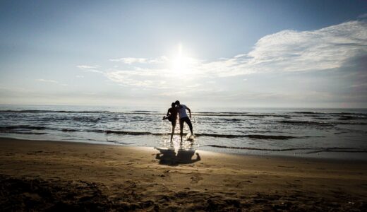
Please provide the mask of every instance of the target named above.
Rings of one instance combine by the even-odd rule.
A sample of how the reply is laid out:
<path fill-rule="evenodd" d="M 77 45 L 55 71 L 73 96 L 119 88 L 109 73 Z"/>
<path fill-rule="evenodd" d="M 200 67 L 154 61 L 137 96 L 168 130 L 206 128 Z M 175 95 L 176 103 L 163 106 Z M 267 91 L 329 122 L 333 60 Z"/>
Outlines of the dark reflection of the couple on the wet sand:
<path fill-rule="evenodd" d="M 177 154 L 173 147 L 169 147 L 167 149 L 155 147 L 155 149 L 160 151 L 160 153 L 157 153 L 155 156 L 155 159 L 160 160 L 160 164 L 162 165 L 189 164 L 201 160 L 199 153 L 195 153 L 195 149 L 193 148 L 179 148 Z M 193 155 L 196 155 L 195 159 L 193 159 Z"/>

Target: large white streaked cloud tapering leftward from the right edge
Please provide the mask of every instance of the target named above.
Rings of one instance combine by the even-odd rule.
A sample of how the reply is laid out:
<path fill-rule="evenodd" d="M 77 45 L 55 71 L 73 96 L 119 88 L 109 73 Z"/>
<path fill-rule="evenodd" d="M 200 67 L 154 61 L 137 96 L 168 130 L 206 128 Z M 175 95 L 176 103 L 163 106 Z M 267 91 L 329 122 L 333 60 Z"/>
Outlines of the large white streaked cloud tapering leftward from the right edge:
<path fill-rule="evenodd" d="M 366 43 L 364 21 L 312 31 L 284 30 L 262 37 L 248 54 L 212 61 L 201 68 L 217 76 L 337 69 L 349 59 L 366 54 Z"/>

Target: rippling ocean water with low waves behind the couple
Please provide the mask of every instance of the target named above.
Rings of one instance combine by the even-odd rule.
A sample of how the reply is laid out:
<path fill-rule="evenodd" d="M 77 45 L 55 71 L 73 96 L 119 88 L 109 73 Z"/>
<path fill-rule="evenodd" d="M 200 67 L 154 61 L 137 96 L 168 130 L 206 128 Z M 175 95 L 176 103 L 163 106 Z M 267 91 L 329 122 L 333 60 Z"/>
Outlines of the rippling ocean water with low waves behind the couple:
<path fill-rule="evenodd" d="M 367 160 L 367 110 L 191 108 L 193 142 L 169 141 L 168 108 L 0 105 L 0 136 L 255 155 Z M 185 125 L 184 134 L 188 134 Z"/>

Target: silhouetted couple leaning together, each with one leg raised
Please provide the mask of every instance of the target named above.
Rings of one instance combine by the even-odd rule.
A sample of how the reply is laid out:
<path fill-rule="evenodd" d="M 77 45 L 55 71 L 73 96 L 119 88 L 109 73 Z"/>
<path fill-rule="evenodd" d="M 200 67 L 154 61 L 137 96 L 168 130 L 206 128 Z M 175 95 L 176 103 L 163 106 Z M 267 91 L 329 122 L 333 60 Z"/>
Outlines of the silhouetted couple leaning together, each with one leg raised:
<path fill-rule="evenodd" d="M 190 127 L 191 136 L 193 136 L 193 124 L 191 124 L 191 110 L 186 105 L 181 105 L 180 101 L 172 102 L 172 107 L 168 109 L 167 116 L 163 117 L 163 119 L 168 119 L 172 123 L 172 133 L 171 133 L 171 141 L 174 136 L 174 128 L 176 127 L 177 114 L 179 114 L 179 123 L 180 123 L 180 136 L 182 142 L 182 134 L 183 134 L 183 122 L 186 122 L 188 127 Z M 186 110 L 190 114 L 190 118 L 186 114 Z"/>

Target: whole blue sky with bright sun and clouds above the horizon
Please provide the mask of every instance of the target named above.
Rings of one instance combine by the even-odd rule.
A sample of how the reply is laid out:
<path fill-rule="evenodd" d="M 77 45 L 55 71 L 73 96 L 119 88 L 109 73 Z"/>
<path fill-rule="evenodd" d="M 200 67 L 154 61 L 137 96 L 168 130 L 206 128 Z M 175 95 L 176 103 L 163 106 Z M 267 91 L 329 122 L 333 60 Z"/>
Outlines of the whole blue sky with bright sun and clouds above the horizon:
<path fill-rule="evenodd" d="M 3 1 L 0 104 L 367 107 L 367 1 Z"/>

